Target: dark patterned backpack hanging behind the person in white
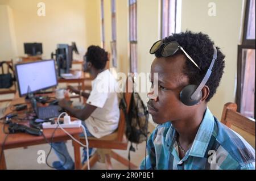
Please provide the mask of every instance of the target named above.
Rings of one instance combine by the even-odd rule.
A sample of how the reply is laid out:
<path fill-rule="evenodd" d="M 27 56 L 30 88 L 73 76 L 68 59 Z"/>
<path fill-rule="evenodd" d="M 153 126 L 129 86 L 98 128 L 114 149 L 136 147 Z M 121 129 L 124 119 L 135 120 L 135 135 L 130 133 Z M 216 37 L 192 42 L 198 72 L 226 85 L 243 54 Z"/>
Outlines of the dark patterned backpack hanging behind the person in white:
<path fill-rule="evenodd" d="M 121 98 L 119 107 L 123 110 L 126 120 L 126 137 L 131 142 L 128 159 L 130 169 L 130 151 L 135 151 L 133 143 L 139 144 L 147 141 L 148 111 L 147 107 L 137 92 L 131 95 L 130 108 L 127 113 L 127 105 L 124 96 Z"/>

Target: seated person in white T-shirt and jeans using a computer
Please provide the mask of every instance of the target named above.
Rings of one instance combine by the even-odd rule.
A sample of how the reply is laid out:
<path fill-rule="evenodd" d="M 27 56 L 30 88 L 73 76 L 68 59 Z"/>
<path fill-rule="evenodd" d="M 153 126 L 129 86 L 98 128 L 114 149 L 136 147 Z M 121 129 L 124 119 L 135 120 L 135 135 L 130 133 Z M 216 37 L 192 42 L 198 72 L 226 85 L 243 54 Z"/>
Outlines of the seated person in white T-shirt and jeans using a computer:
<path fill-rule="evenodd" d="M 90 46 L 84 59 L 84 71 L 89 72 L 93 78 L 92 91 L 87 94 L 69 87 L 71 91 L 88 98 L 84 108 L 72 108 L 69 106 L 68 100 L 65 99 L 59 101 L 59 106 L 71 113 L 72 116 L 84 120 L 82 124 L 85 126 L 87 136 L 101 138 L 111 134 L 118 127 L 119 104 L 117 93 L 114 91 L 116 81 L 110 71 L 105 69 L 108 53 L 104 49 Z M 60 159 L 60 161 L 53 162 L 53 167 L 73 169 L 74 162 L 64 142 L 55 142 L 52 145 Z M 89 150 L 89 153 L 92 153 L 92 149 Z"/>

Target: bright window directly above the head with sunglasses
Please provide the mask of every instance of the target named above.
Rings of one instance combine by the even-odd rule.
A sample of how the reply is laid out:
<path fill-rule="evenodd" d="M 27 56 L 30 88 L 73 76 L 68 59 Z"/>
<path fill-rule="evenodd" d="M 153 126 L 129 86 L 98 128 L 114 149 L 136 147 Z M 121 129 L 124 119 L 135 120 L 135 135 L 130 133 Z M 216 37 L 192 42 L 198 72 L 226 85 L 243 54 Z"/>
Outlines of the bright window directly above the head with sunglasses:
<path fill-rule="evenodd" d="M 181 1 L 161 0 L 162 29 L 161 37 L 170 36 L 171 33 L 181 31 Z"/>

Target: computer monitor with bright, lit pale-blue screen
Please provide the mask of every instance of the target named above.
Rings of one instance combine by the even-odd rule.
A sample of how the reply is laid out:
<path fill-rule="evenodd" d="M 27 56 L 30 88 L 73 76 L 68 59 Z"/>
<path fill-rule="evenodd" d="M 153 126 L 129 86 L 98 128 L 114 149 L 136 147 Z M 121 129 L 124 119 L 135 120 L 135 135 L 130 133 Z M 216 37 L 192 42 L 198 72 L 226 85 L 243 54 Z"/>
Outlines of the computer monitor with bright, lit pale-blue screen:
<path fill-rule="evenodd" d="M 19 96 L 57 86 L 54 60 L 43 60 L 15 65 Z"/>

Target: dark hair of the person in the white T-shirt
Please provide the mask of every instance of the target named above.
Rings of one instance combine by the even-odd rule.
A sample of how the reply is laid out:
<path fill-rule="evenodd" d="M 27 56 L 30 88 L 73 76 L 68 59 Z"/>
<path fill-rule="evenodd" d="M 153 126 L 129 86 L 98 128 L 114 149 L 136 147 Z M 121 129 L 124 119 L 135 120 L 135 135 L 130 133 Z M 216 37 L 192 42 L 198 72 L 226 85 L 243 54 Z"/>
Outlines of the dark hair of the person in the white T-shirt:
<path fill-rule="evenodd" d="M 86 61 L 91 62 L 94 68 L 101 70 L 105 68 L 108 61 L 108 52 L 98 46 L 91 45 L 88 47 L 85 57 Z"/>

